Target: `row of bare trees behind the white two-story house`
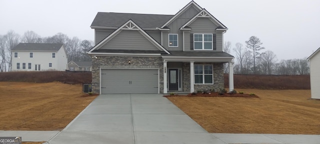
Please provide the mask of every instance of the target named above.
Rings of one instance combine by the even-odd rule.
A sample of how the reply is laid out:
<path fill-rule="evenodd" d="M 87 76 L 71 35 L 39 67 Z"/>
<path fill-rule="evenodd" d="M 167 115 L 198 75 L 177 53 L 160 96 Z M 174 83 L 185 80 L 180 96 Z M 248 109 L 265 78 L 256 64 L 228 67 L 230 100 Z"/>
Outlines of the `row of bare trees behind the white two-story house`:
<path fill-rule="evenodd" d="M 21 36 L 13 30 L 0 34 L 0 71 L 11 71 L 11 50 L 19 43 L 63 43 L 68 61 L 91 61 L 86 51 L 93 46 L 91 40 L 81 40 L 78 37 L 68 37 L 61 32 L 53 36 L 41 37 L 32 30 L 27 30 Z"/>

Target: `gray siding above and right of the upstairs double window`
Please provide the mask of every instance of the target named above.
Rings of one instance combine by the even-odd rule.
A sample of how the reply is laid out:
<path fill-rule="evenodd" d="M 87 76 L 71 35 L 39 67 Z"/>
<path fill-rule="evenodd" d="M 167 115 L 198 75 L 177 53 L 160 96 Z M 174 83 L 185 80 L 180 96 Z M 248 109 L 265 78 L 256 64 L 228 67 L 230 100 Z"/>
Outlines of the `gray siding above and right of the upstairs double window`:
<path fill-rule="evenodd" d="M 217 25 L 209 18 L 199 17 L 189 27 L 191 27 L 191 33 L 216 33 L 216 50 L 222 51 L 222 32 L 215 32 Z"/>

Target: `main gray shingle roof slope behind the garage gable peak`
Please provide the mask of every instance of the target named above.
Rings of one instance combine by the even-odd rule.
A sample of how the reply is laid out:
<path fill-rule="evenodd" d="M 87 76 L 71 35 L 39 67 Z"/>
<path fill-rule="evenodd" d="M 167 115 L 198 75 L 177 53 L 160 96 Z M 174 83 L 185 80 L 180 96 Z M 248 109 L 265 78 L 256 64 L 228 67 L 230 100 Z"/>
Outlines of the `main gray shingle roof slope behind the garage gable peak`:
<path fill-rule="evenodd" d="M 91 26 L 119 27 L 129 19 L 133 20 L 142 29 L 160 27 L 173 15 L 163 14 L 138 14 L 138 13 L 115 13 L 98 12 Z"/>

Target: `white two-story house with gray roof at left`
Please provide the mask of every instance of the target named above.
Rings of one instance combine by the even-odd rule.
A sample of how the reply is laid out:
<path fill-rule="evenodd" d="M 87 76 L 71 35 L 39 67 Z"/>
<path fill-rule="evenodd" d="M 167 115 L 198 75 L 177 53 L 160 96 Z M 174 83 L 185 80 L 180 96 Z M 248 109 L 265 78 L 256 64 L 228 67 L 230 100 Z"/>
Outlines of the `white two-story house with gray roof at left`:
<path fill-rule="evenodd" d="M 19 43 L 11 50 L 12 71 L 64 71 L 66 51 L 60 43 Z"/>

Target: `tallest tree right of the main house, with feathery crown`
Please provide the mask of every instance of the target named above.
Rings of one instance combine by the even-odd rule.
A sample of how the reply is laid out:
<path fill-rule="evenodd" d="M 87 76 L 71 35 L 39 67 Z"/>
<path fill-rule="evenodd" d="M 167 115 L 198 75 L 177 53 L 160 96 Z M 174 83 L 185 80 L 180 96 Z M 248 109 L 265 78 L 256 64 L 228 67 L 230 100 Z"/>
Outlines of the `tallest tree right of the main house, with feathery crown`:
<path fill-rule="evenodd" d="M 260 46 L 263 43 L 256 36 L 251 36 L 249 40 L 245 41 L 245 43 L 246 43 L 246 47 L 252 49 L 252 52 L 253 52 L 253 67 L 254 67 L 254 74 L 255 74 L 255 56 L 258 56 L 260 54 L 258 52 L 259 50 L 264 49 L 264 47 Z"/>

